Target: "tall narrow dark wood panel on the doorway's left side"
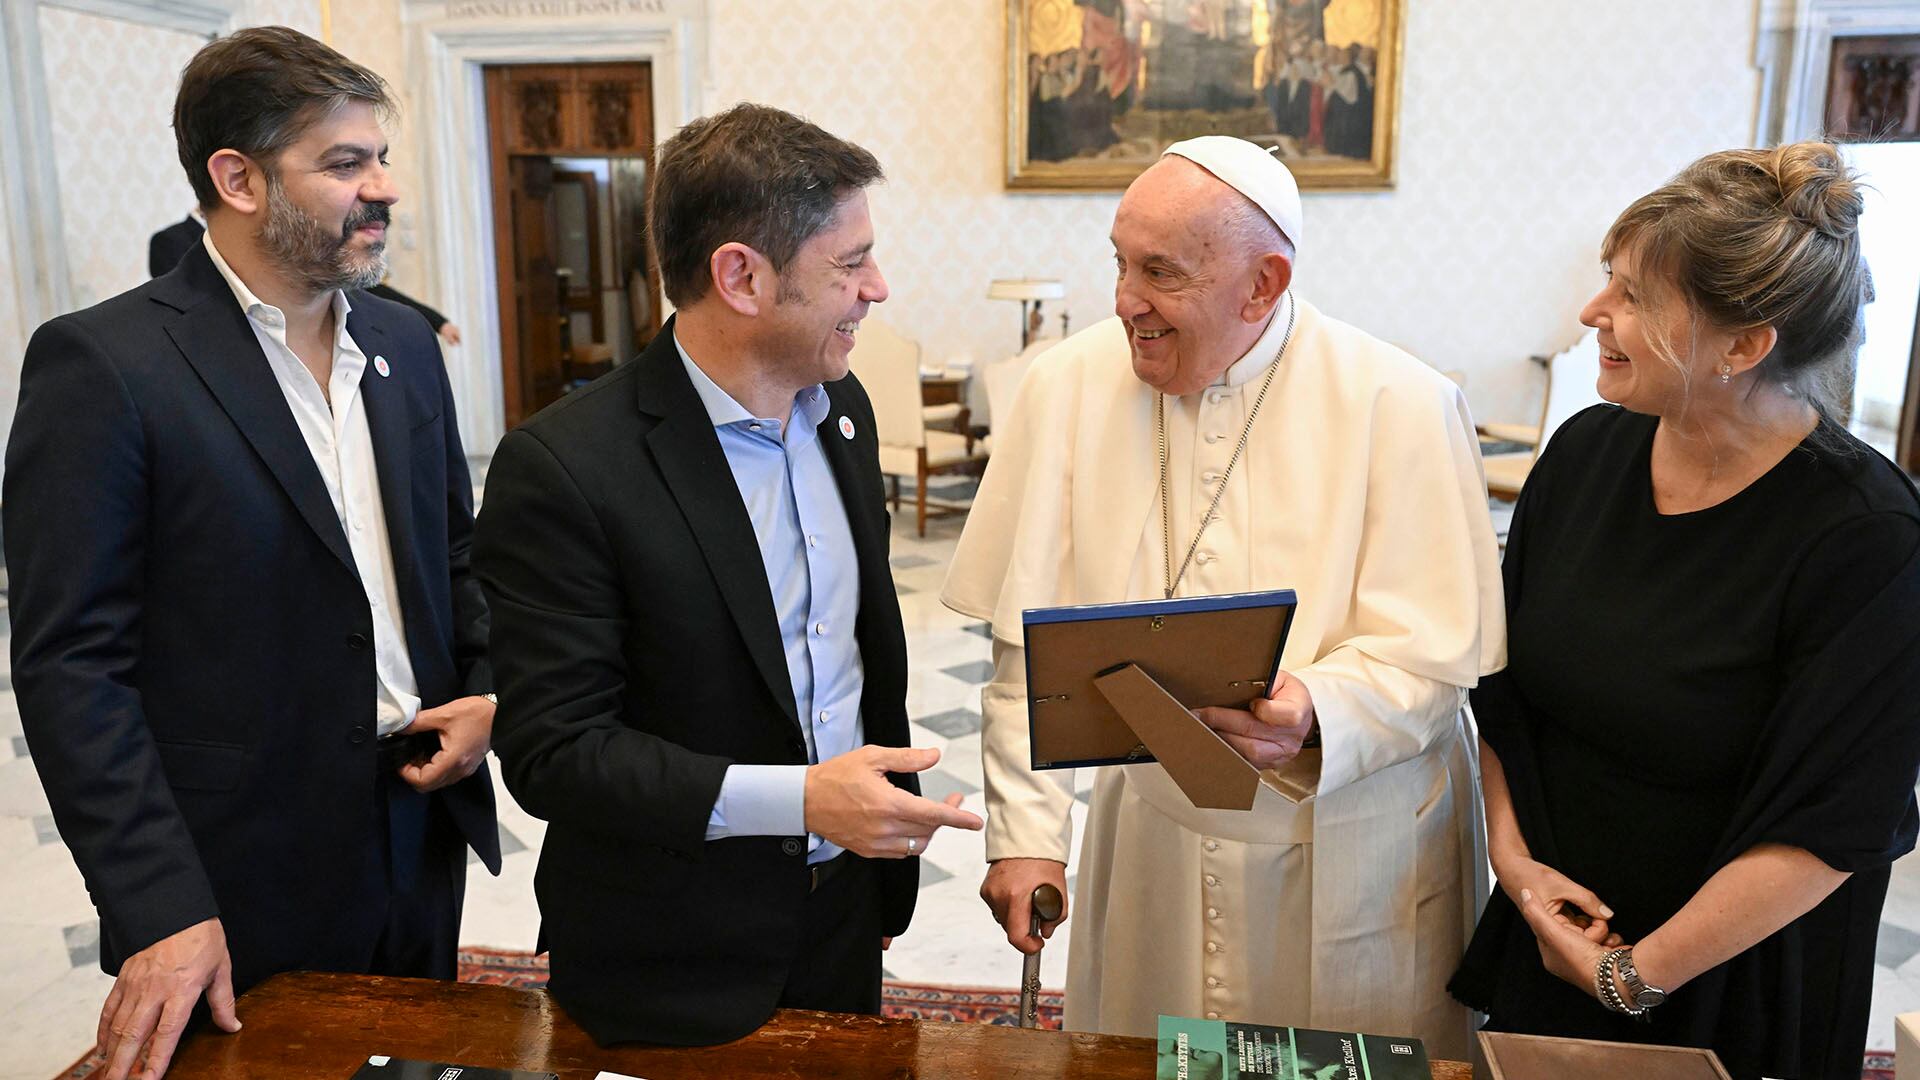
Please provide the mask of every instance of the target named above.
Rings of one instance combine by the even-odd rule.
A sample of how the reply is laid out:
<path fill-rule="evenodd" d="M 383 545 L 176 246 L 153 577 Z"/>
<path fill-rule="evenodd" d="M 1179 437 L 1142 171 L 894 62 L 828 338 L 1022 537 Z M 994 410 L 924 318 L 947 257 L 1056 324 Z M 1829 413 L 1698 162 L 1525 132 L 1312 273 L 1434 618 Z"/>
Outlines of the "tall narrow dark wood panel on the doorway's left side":
<path fill-rule="evenodd" d="M 555 259 L 553 161 L 513 158 L 513 307 L 518 323 L 522 417 L 561 396 L 564 342 Z"/>

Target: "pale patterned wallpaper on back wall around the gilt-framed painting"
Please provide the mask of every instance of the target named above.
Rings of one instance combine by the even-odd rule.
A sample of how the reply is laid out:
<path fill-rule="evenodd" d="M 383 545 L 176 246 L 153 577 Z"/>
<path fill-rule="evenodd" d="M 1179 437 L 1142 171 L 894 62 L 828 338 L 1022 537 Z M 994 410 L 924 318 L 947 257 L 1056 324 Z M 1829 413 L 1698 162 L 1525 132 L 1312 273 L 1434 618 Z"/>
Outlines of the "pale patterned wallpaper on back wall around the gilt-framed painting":
<path fill-rule="evenodd" d="M 1075 327 L 1112 311 L 1117 196 L 1002 190 L 1002 12 L 712 0 L 707 106 L 783 106 L 879 156 L 881 317 L 935 359 L 1018 346 L 995 277 L 1064 279 Z M 1465 369 L 1476 413 L 1532 419 L 1524 357 L 1576 338 L 1613 215 L 1751 138 L 1753 19 L 1726 0 L 1409 0 L 1398 188 L 1308 196 L 1302 294 Z"/>

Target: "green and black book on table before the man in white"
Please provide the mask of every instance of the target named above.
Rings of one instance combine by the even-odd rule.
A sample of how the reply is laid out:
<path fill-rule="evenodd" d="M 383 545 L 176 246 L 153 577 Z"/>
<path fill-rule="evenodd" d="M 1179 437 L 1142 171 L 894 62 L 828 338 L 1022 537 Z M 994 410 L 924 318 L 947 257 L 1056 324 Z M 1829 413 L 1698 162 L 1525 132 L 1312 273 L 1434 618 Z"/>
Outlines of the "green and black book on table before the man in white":
<path fill-rule="evenodd" d="M 1432 1080 L 1405 1036 L 1160 1017 L 1154 1080 Z"/>

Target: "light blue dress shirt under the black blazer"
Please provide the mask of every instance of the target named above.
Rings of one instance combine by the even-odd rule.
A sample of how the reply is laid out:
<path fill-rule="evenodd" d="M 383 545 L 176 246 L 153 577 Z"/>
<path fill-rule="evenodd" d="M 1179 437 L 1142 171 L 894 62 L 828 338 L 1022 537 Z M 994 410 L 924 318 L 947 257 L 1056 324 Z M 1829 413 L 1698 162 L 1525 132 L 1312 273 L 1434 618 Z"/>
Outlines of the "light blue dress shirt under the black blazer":
<path fill-rule="evenodd" d="M 847 753 L 864 742 L 860 690 L 866 671 L 852 632 L 860 615 L 860 561 L 833 467 L 820 446 L 820 423 L 831 411 L 828 390 L 814 384 L 795 394 L 789 423 L 755 417 L 693 363 L 680 338 L 674 348 L 707 405 L 760 542 L 806 759 L 820 763 Z M 707 819 L 707 840 L 803 832 L 804 765 L 728 765 Z M 806 836 L 808 863 L 839 853 L 839 846 Z"/>

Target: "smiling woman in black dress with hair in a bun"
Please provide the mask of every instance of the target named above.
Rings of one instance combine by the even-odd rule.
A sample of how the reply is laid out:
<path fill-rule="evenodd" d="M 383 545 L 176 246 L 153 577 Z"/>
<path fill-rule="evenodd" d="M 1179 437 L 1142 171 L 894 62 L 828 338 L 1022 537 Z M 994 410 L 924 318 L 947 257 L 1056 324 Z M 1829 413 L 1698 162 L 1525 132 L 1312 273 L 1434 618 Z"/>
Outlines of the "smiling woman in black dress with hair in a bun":
<path fill-rule="evenodd" d="M 1836 423 L 1859 211 L 1799 142 L 1703 158 L 1607 233 L 1580 321 L 1613 404 L 1521 494 L 1509 663 L 1473 692 L 1500 890 L 1452 992 L 1490 1028 L 1860 1076 L 1920 822 L 1920 498 Z"/>

